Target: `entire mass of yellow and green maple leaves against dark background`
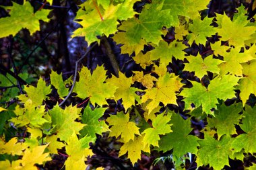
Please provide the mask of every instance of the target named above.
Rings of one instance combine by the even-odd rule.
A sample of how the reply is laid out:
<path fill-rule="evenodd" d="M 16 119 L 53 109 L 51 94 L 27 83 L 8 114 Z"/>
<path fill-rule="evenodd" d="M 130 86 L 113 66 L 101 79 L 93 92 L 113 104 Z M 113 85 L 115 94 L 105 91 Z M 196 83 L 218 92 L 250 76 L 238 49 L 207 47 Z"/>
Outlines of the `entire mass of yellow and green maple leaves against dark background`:
<path fill-rule="evenodd" d="M 141 153 L 153 150 L 172 151 L 177 168 L 183 167 L 181 159 L 187 153 L 196 155 L 197 167 L 214 169 L 229 165 L 229 159 L 243 161 L 244 154 L 256 153 L 256 108 L 248 105 L 250 96 L 256 95 L 256 32 L 245 7 L 238 7 L 232 18 L 225 13 L 210 18 L 200 15 L 207 9 L 209 1 L 205 0 L 152 0 L 140 12 L 133 11 L 136 1 L 82 3 L 75 17 L 82 28 L 73 37 L 85 36 L 90 44 L 100 42 L 98 36 L 115 34 L 113 40 L 122 44 L 121 52 L 131 55 L 141 70 L 134 71 L 133 77 L 121 72 L 119 77 L 107 77 L 103 66 L 92 72 L 82 67 L 73 92 L 81 99 L 89 97 L 90 104 L 83 110 L 77 105 L 46 108 L 44 101 L 52 89 L 63 98 L 70 91 L 66 85 L 73 83 L 54 71 L 51 85 L 39 79 L 36 87 L 24 87 L 26 94 L 18 95 L 18 105 L 7 110 L 2 105 L 0 110 L 0 154 L 4 157 L 0 169 L 36 169 L 34 165 L 51 161 L 50 155 L 59 154 L 61 148 L 67 155 L 66 169 L 85 169 L 86 159 L 94 155 L 89 143 L 102 133 L 123 143 L 119 156 L 127 154 L 133 165 Z M 0 19 L 4 30 L 0 37 L 14 36 L 21 28 L 33 34 L 39 30 L 38 19 L 49 21 L 50 10 L 34 13 L 28 2 L 5 9 L 10 16 Z M 18 13 L 24 21 L 16 19 Z M 168 42 L 166 35 L 171 31 L 174 40 Z M 218 39 L 210 43 L 211 54 L 185 52 L 214 36 Z M 170 71 L 173 60 L 184 63 L 180 73 Z M 188 72 L 194 74 L 192 79 L 186 77 Z M 9 86 L 6 82 L 1 77 L 1 85 Z M 15 93 L 3 91 L 1 97 L 12 98 Z M 100 118 L 108 106 L 106 99 L 121 101 L 125 112 L 110 115 L 104 122 Z M 232 99 L 230 105 L 224 102 L 228 99 Z M 181 117 L 168 109 L 170 105 L 187 114 Z M 207 121 L 201 130 L 203 138 L 191 132 L 191 118 Z M 26 129 L 30 135 L 6 138 L 10 126 Z"/>

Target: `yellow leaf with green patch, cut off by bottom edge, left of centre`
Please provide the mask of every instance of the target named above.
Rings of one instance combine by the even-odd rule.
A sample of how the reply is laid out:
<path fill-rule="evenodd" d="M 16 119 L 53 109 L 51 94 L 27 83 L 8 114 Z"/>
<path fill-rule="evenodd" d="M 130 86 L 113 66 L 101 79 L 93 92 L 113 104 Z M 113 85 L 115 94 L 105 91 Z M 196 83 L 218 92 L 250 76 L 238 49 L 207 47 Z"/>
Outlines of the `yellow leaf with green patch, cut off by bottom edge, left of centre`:
<path fill-rule="evenodd" d="M 93 139 L 88 136 L 78 140 L 75 132 L 71 134 L 65 146 L 66 153 L 69 155 L 65 161 L 66 169 L 86 169 L 87 165 L 84 161 L 86 161 L 86 157 L 93 155 L 92 150 L 89 149 L 89 142 L 92 140 Z"/>

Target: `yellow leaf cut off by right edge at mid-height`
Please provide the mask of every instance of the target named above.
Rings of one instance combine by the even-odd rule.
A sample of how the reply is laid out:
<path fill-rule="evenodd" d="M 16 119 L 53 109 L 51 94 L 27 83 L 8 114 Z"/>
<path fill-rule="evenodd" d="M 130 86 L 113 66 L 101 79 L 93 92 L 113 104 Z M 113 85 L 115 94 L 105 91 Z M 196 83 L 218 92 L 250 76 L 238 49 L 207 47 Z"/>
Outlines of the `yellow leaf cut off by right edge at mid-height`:
<path fill-rule="evenodd" d="M 243 78 L 238 81 L 239 85 L 237 89 L 241 91 L 240 97 L 243 101 L 243 105 L 245 105 L 251 93 L 256 95 L 256 60 L 251 60 L 249 62 L 242 63 L 241 65 L 243 67 Z"/>

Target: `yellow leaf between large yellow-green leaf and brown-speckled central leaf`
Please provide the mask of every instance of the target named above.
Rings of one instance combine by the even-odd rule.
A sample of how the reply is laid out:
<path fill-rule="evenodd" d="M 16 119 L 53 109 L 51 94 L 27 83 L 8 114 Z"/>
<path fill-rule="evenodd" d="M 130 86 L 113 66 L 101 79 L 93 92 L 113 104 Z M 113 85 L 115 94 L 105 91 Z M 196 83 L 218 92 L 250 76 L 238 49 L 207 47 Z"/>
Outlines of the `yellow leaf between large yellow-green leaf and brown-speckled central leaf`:
<path fill-rule="evenodd" d="M 131 107 L 131 105 L 135 105 L 135 100 L 140 103 L 139 95 L 137 95 L 136 91 L 141 91 L 135 87 L 131 87 L 133 83 L 132 77 L 127 78 L 125 74 L 119 73 L 119 78 L 111 77 L 111 79 L 106 80 L 112 87 L 117 87 L 115 95 L 115 100 L 123 99 L 123 107 L 125 110 Z"/>

